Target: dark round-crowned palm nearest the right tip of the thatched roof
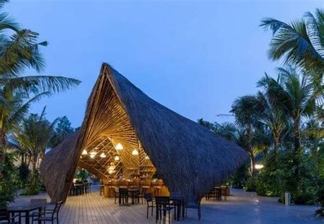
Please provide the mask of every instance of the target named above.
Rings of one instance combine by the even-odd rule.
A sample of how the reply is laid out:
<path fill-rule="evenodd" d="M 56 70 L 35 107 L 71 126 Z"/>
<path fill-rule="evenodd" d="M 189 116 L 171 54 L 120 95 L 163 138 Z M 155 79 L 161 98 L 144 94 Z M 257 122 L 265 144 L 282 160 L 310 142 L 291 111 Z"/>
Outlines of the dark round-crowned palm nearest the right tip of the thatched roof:
<path fill-rule="evenodd" d="M 255 154 L 252 145 L 253 132 L 258 127 L 258 117 L 261 114 L 262 107 L 260 100 L 256 96 L 241 96 L 234 100 L 231 113 L 234 113 L 237 124 L 243 129 L 245 135 L 245 150 L 249 152 L 251 158 L 251 173 L 255 175 Z"/>

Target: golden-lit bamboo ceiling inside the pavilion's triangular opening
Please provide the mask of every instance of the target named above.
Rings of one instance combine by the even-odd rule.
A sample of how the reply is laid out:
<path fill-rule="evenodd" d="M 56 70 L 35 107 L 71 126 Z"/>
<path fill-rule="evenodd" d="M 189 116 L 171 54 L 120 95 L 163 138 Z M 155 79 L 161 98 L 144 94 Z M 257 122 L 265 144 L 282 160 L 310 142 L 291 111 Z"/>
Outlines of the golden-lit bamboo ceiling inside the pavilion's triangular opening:
<path fill-rule="evenodd" d="M 107 79 L 107 71 L 102 71 L 102 76 L 97 82 L 98 89 L 94 93 L 93 103 L 89 105 L 90 113 L 85 126 L 85 134 L 81 149 L 79 167 L 94 173 L 98 178 L 133 178 L 134 174 L 148 175 L 154 173 L 154 166 L 146 156 L 137 139 L 134 129 L 129 122 L 120 100 Z M 103 91 L 105 89 L 105 91 Z M 123 150 L 116 150 L 116 145 L 121 144 Z M 133 155 L 133 150 L 139 152 Z M 94 158 L 90 155 L 95 154 Z M 104 154 L 106 157 L 100 157 Z M 115 160 L 116 156 L 120 158 Z M 109 167 L 116 166 L 113 173 Z"/>

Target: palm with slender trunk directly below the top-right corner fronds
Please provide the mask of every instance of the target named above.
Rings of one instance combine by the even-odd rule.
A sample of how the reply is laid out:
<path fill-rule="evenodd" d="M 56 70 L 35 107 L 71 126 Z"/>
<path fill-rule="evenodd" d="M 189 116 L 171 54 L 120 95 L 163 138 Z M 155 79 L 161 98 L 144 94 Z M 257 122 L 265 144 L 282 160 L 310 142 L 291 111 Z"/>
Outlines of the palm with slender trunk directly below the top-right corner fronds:
<path fill-rule="evenodd" d="M 264 87 L 267 96 L 275 104 L 275 107 L 284 111 L 293 120 L 294 148 L 295 152 L 298 152 L 300 149 L 301 117 L 314 113 L 316 98 L 321 94 L 315 91 L 310 77 L 305 72 L 299 74 L 292 67 L 278 68 L 277 70 L 277 80 L 265 74 L 258 81 L 258 86 Z"/>

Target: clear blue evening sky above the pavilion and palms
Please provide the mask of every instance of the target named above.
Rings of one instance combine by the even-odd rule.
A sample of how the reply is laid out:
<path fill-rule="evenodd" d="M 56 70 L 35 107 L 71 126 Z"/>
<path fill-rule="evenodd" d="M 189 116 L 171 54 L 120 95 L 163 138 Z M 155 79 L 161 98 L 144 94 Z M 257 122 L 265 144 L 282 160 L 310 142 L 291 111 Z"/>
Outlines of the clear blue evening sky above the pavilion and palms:
<path fill-rule="evenodd" d="M 42 74 L 82 81 L 76 89 L 32 107 L 47 117 L 83 121 L 85 104 L 103 61 L 148 96 L 197 120 L 224 122 L 233 100 L 257 91 L 273 74 L 267 59 L 266 16 L 291 21 L 323 7 L 319 0 L 275 1 L 26 1 L 5 7 L 23 27 L 49 41 Z M 35 74 L 35 72 L 26 72 Z"/>

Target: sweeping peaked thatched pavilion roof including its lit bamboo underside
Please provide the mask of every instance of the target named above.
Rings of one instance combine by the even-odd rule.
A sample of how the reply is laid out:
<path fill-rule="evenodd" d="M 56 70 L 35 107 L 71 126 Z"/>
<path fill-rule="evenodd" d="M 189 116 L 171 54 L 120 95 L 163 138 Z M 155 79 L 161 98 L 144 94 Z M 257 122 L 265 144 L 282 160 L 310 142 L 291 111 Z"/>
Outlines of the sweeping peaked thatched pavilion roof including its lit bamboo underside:
<path fill-rule="evenodd" d="M 109 141 L 107 147 L 101 143 L 103 150 L 122 143 L 120 157 L 126 170 L 141 165 L 143 158 L 131 152 L 142 150 L 150 158 L 146 165 L 152 162 L 170 191 L 190 198 L 203 197 L 247 160 L 239 146 L 152 100 L 108 64 L 100 70 L 80 133 L 42 162 L 44 184 L 53 201 L 65 199 L 78 162 L 99 177 L 107 174 L 106 160 L 115 156 L 109 149 L 109 158 L 100 158 L 106 163 L 80 159 L 83 149 L 98 150 L 92 146 L 95 141 Z"/>

